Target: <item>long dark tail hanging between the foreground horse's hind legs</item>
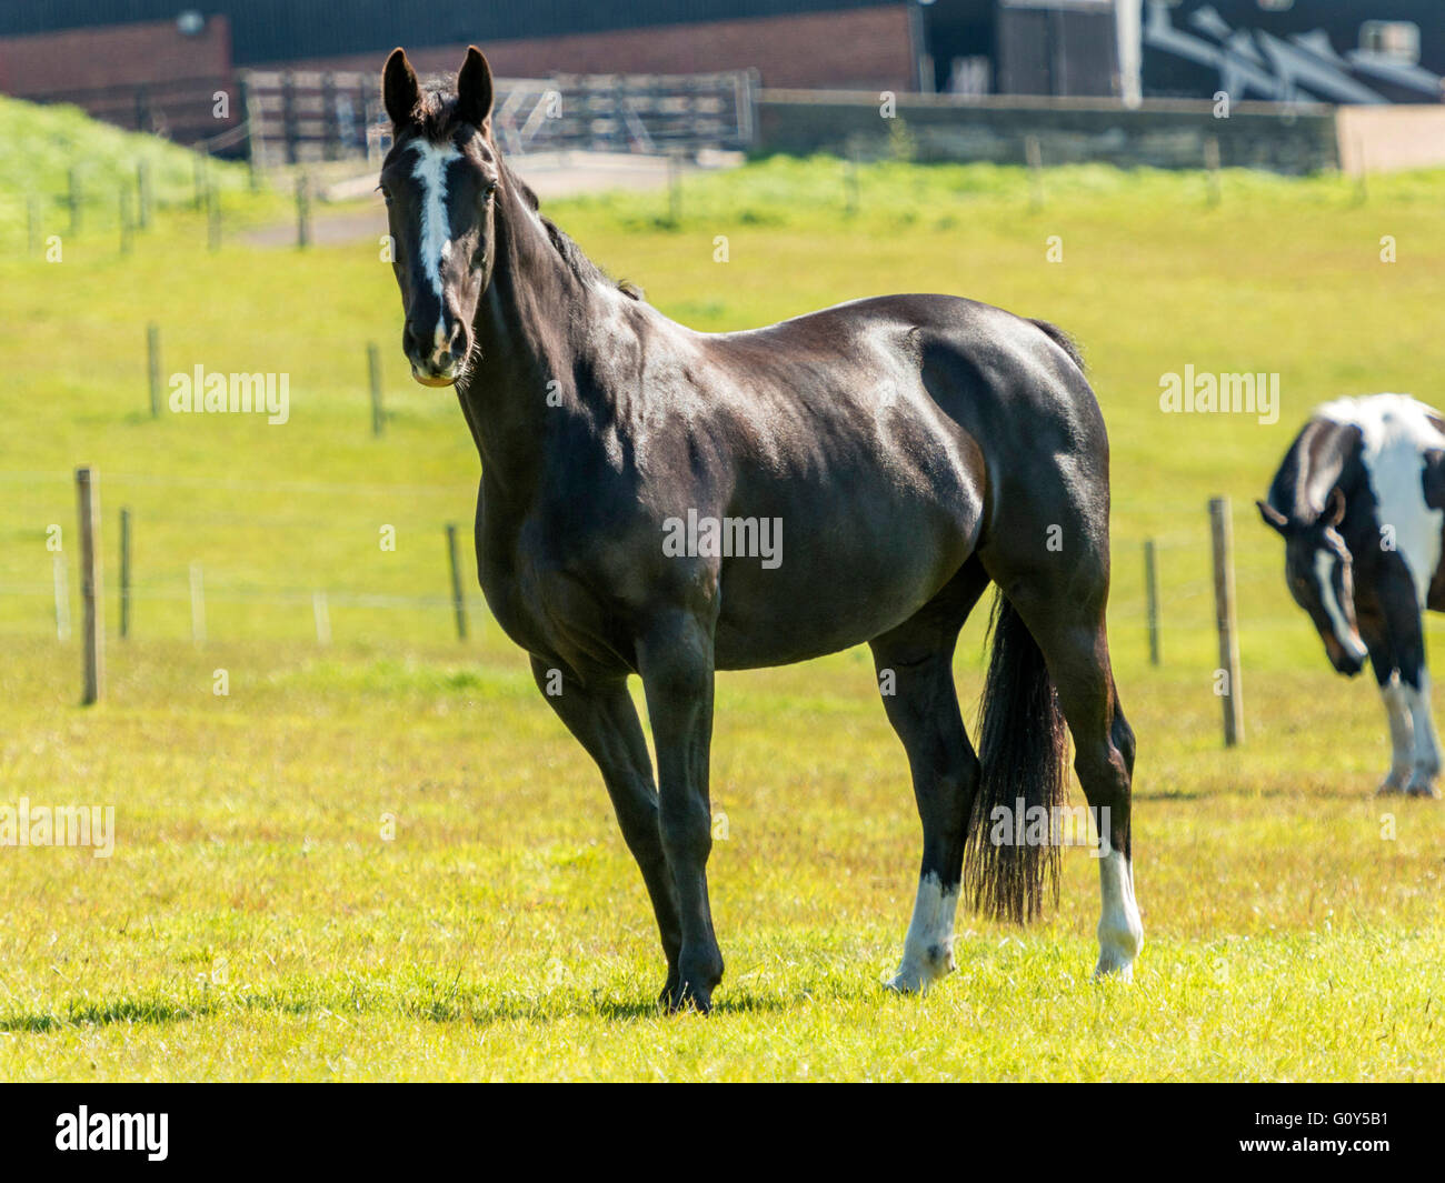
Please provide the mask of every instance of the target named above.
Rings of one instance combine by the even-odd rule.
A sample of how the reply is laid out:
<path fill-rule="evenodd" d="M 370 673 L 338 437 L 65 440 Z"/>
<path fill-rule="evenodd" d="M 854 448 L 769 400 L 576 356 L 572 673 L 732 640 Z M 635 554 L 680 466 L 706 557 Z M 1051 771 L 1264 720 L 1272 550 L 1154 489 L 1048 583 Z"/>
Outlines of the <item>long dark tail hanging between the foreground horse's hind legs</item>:
<path fill-rule="evenodd" d="M 1068 787 L 1066 732 L 1043 653 L 1003 592 L 994 597 L 988 628 L 993 653 L 978 725 L 983 777 L 964 884 L 978 911 L 1023 923 L 1043 910 L 1046 898 L 1058 903 L 1055 807 L 1064 805 Z M 1036 806 L 1046 818 L 1042 842 Z"/>

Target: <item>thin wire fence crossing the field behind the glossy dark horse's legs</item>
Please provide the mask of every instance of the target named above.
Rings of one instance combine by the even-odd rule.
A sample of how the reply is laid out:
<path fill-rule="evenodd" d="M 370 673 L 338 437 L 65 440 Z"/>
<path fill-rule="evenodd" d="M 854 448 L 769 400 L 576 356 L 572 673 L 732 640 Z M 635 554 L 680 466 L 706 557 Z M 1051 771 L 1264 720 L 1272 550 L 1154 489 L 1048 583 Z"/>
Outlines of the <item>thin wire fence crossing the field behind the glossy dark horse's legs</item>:
<path fill-rule="evenodd" d="M 470 482 L 367 484 L 101 472 L 100 558 L 108 637 L 442 641 L 487 627 L 475 579 Z M 66 640 L 81 615 L 74 478 L 0 472 L 0 631 Z M 118 517 L 127 511 L 126 555 Z M 1114 532 L 1116 650 L 1212 669 L 1217 644 L 1207 507 L 1150 503 L 1144 534 Z M 1277 537 L 1251 501 L 1231 506 L 1238 634 L 1260 653 L 1311 625 L 1290 601 Z M 451 532 L 448 527 L 452 527 Z M 1155 549 L 1150 615 L 1144 542 Z M 455 539 L 455 543 L 454 543 Z M 452 550 L 455 546 L 455 565 Z M 980 617 L 983 614 L 978 614 Z M 468 624 L 470 623 L 470 624 Z"/>

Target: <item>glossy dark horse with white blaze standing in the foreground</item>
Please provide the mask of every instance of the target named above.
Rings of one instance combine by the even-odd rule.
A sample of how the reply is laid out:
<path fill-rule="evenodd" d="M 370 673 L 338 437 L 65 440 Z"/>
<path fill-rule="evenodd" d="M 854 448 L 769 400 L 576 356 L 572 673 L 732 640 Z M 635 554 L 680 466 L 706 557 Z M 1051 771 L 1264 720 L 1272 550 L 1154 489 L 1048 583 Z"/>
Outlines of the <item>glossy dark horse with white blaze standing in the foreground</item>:
<path fill-rule="evenodd" d="M 481 454 L 483 592 L 601 768 L 662 932 L 663 1002 L 707 1010 L 722 976 L 714 670 L 863 641 L 923 822 L 892 985 L 952 968 L 965 874 L 977 906 L 1020 920 L 1056 888 L 1040 818 L 1062 800 L 1065 721 L 1101 835 L 1098 972 L 1129 976 L 1143 937 L 1134 737 L 1104 631 L 1108 441 L 1068 338 L 952 296 L 694 332 L 539 215 L 491 134 L 480 51 L 451 92 L 423 90 L 397 49 L 383 94 L 402 344 L 418 381 L 455 386 Z M 951 659 L 990 581 L 980 760 Z"/>

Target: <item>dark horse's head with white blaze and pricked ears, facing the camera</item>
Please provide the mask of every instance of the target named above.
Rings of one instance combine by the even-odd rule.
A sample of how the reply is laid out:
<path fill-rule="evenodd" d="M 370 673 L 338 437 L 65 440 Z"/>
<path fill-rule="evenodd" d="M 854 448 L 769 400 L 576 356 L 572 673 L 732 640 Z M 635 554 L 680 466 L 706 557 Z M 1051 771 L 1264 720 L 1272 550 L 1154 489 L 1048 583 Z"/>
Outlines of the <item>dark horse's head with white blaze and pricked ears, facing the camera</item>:
<path fill-rule="evenodd" d="M 419 383 L 451 386 L 465 373 L 494 263 L 493 198 L 503 175 L 491 143 L 491 69 L 471 46 L 455 95 L 422 90 L 394 49 L 381 94 L 393 142 L 380 188 L 406 316 L 402 350 Z"/>

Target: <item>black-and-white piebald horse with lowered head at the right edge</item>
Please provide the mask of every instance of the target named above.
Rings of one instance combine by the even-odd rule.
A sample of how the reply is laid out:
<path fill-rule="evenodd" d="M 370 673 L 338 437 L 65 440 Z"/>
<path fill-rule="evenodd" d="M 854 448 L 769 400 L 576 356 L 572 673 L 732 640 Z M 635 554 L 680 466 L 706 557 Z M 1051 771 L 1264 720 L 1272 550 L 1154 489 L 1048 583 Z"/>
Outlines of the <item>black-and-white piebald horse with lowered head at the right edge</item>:
<path fill-rule="evenodd" d="M 1374 667 L 1392 751 L 1379 792 L 1438 797 L 1422 614 L 1445 611 L 1445 419 L 1405 394 L 1325 403 L 1257 504 L 1331 664 Z"/>

